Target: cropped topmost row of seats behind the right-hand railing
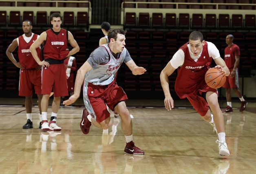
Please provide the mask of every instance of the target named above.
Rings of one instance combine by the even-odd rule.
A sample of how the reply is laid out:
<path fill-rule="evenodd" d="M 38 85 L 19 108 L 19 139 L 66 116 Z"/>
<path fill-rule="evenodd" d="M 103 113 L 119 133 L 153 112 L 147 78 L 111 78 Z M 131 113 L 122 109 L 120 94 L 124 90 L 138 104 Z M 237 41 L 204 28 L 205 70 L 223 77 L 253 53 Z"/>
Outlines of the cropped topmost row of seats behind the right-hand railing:
<path fill-rule="evenodd" d="M 136 2 L 140 2 L 140 3 L 136 4 Z M 141 3 L 141 2 L 145 2 L 145 3 Z M 161 2 L 164 2 L 164 4 Z M 254 10 L 255 7 L 256 7 L 256 0 L 136 0 L 136 1 L 125 0 L 124 1 L 124 8 Z"/>

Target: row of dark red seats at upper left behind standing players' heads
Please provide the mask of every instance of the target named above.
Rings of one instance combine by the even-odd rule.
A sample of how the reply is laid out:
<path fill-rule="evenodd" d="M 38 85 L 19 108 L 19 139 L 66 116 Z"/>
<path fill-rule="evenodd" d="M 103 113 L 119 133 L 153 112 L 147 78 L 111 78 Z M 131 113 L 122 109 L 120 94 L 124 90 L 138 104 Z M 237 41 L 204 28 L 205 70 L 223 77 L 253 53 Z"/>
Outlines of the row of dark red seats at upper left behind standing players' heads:
<path fill-rule="evenodd" d="M 60 11 L 51 11 L 47 15 L 46 11 L 37 11 L 36 15 L 34 15 L 33 11 L 24 11 L 21 16 L 20 11 L 10 11 L 9 15 L 7 15 L 7 11 L 0 11 L 0 26 L 21 26 L 23 20 L 32 21 L 34 26 L 49 26 L 49 16 L 56 12 L 60 13 Z M 79 11 L 75 17 L 74 12 L 64 11 L 62 24 L 64 26 L 86 27 L 89 24 L 88 13 Z"/>

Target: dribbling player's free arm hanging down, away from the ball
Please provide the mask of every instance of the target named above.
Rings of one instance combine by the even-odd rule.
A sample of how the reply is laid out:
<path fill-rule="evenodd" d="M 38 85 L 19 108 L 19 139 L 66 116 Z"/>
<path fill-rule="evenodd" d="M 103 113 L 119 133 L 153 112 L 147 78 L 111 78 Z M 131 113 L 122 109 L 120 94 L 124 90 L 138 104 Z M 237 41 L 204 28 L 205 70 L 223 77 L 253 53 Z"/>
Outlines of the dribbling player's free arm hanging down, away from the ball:
<path fill-rule="evenodd" d="M 170 94 L 169 79 L 168 79 L 168 77 L 174 71 L 175 71 L 175 68 L 172 67 L 170 62 L 168 62 L 166 67 L 161 71 L 161 74 L 160 74 L 161 86 L 163 88 L 163 92 L 164 92 L 164 96 L 165 96 L 164 105 L 168 111 L 172 110 L 172 108 L 174 107 L 174 101 Z"/>

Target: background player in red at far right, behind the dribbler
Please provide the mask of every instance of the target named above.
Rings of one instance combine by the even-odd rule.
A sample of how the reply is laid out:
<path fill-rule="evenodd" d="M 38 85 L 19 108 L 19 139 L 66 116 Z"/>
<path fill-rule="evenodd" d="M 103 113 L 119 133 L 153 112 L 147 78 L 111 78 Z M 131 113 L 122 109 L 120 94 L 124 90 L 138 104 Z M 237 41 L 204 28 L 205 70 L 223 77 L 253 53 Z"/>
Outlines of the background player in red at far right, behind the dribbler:
<path fill-rule="evenodd" d="M 241 92 L 238 89 L 238 66 L 240 58 L 240 48 L 233 43 L 234 36 L 232 34 L 227 35 L 226 43 L 227 47 L 225 48 L 225 63 L 230 70 L 230 75 L 227 77 L 223 88 L 226 89 L 226 99 L 227 107 L 225 112 L 233 112 L 232 103 L 231 103 L 231 89 L 235 92 L 236 96 L 239 97 L 241 101 L 240 112 L 245 110 L 247 101 L 243 98 Z"/>

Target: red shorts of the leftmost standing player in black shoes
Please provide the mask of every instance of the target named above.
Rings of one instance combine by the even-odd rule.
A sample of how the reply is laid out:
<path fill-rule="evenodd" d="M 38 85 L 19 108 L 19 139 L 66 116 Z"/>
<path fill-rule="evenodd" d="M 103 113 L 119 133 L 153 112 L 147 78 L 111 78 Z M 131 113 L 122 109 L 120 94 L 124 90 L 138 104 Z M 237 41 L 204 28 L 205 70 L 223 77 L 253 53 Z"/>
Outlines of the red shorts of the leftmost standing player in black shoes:
<path fill-rule="evenodd" d="M 19 96 L 41 94 L 41 69 L 20 69 Z"/>

